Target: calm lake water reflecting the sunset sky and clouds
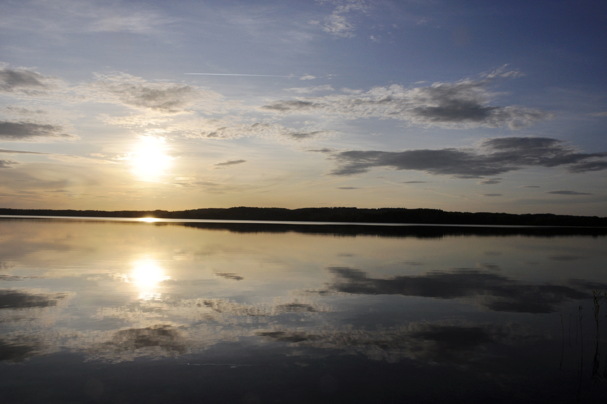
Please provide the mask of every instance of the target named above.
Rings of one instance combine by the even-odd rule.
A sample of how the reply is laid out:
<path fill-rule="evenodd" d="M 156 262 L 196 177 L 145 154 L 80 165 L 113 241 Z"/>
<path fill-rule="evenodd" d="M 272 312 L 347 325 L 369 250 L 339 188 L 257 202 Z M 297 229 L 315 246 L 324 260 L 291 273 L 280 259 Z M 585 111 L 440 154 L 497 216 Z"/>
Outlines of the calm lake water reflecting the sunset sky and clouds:
<path fill-rule="evenodd" d="M 2 218 L 0 400 L 604 402 L 605 234 Z"/>

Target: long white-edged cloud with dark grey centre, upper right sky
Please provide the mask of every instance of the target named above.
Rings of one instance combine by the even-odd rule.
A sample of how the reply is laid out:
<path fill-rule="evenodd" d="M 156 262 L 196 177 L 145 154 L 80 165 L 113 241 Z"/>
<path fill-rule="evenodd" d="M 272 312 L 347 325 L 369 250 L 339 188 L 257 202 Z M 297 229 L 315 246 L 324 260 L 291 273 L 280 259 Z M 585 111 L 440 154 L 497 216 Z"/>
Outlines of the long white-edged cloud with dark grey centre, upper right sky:
<path fill-rule="evenodd" d="M 412 124 L 439 127 L 503 127 L 518 129 L 550 114 L 537 109 L 487 105 L 490 84 L 517 72 L 495 72 L 480 79 L 435 83 L 405 89 L 393 85 L 362 94 L 330 95 L 279 100 L 262 106 L 278 113 L 324 113 L 348 118 L 392 118 Z"/>

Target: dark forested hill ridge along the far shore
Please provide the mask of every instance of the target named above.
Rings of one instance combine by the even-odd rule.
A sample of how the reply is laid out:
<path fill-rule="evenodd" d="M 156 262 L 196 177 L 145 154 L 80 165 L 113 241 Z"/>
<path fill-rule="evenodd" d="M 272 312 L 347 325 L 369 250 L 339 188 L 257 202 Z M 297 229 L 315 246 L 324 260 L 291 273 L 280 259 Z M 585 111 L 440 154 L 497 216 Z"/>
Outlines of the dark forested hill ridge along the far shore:
<path fill-rule="evenodd" d="M 606 217 L 553 214 L 504 214 L 488 212 L 445 212 L 440 209 L 385 207 L 230 207 L 228 209 L 176 210 L 52 210 L 0 209 L 0 215 L 79 216 L 79 217 L 155 217 L 171 219 L 337 221 L 356 223 L 486 224 L 509 226 L 583 226 L 607 227 Z"/>

